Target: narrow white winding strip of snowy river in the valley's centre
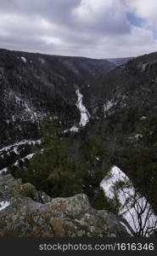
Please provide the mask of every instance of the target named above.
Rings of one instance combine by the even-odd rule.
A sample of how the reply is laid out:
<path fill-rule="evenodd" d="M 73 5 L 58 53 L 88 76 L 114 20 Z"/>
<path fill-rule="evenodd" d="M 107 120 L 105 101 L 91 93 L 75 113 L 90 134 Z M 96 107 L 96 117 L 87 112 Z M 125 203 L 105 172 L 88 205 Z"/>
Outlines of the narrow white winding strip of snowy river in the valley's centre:
<path fill-rule="evenodd" d="M 80 119 L 79 125 L 86 126 L 90 118 L 90 113 L 87 111 L 87 108 L 83 105 L 83 102 L 82 102 L 83 96 L 80 90 L 76 90 L 76 95 L 78 97 L 76 102 L 76 107 L 80 110 L 80 113 L 81 113 L 81 119 Z"/>

